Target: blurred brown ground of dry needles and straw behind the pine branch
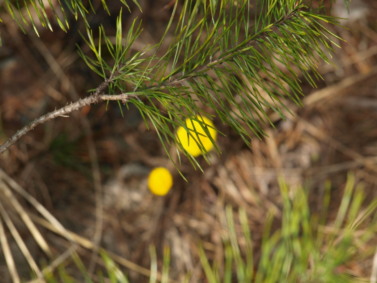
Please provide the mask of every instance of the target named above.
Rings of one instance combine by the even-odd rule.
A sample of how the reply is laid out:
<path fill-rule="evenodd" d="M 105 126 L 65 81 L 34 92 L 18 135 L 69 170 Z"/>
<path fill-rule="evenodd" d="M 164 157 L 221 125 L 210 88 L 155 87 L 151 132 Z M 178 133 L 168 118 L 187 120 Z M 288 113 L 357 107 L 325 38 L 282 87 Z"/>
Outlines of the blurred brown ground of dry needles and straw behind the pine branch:
<path fill-rule="evenodd" d="M 133 18 L 143 20 L 144 30 L 132 52 L 159 42 L 174 5 L 169 0 L 139 3 L 143 13 L 131 3 L 132 14 L 123 8 L 124 33 Z M 94 32 L 101 23 L 107 35 L 115 35 L 121 3 L 108 1 L 111 16 L 100 2 L 95 5 L 97 14 L 88 15 Z M 87 106 L 69 117 L 37 126 L 0 156 L 1 180 L 8 186 L 12 186 L 9 180 L 17 182 L 67 230 L 80 235 L 77 241 L 87 249 L 77 248 L 77 252 L 88 268 L 93 269 L 97 261 L 90 245 L 93 247 L 101 235 L 100 245 L 107 251 L 147 269 L 150 243 L 156 246 L 159 264 L 164 246 L 170 246 L 170 278 L 179 281 L 191 271 L 193 282 L 203 280 L 196 245 L 202 241 L 211 259 L 223 257 L 227 204 L 235 212 L 238 207 L 246 208 L 257 261 L 265 217 L 271 208 L 275 211 L 272 230 L 280 227 L 279 175 L 291 189 L 307 186 L 312 211 L 320 211 L 324 183 L 330 180 L 329 222 L 339 208 L 348 171 L 365 186 L 366 204 L 377 196 L 377 2 L 352 0 L 349 10 L 348 15 L 343 1 L 333 7 L 334 15 L 349 18 L 340 20 L 346 29 L 331 27 L 345 42 L 337 42 L 341 49 L 333 46 L 335 66 L 319 62 L 323 80 L 316 82 L 317 88 L 302 78 L 304 108 L 287 102 L 294 114 L 288 114 L 287 121 L 271 112 L 276 129 L 264 124 L 269 137 L 253 138 L 250 148 L 215 118 L 215 126 L 224 133 L 218 135 L 222 154 L 212 152 L 210 164 L 198 158 L 204 173 L 182 158 L 179 169 L 188 181 L 172 166 L 156 132 L 147 130 L 137 109 L 123 107 L 122 117 L 116 102 L 108 107 L 106 103 Z M 88 90 L 102 82 L 77 55 L 75 44 L 88 51 L 77 32 L 85 30 L 80 21 L 71 18 L 67 33 L 57 25 L 53 33 L 40 27 L 38 38 L 30 27 L 23 34 L 4 11 L 0 23 L 1 143 L 35 118 L 89 95 Z M 164 197 L 152 195 L 147 189 L 146 177 L 156 166 L 166 166 L 173 174 L 173 188 Z M 24 209 L 37 215 L 23 197 L 17 199 Z M 12 219 L 33 257 L 49 263 L 23 222 L 15 215 Z M 68 257 L 70 243 L 40 218 L 32 220 L 53 254 Z M 377 237 L 375 240 L 377 243 Z M 20 248 L 12 240 L 9 246 L 18 272 L 29 278 L 29 266 Z M 131 281 L 148 281 L 143 269 L 127 261 L 124 265 Z M 66 267 L 69 270 L 70 263 Z M 346 268 L 357 276 L 368 277 L 371 260 L 354 262 Z M 11 280 L 3 254 L 0 277 L 4 282 Z"/>

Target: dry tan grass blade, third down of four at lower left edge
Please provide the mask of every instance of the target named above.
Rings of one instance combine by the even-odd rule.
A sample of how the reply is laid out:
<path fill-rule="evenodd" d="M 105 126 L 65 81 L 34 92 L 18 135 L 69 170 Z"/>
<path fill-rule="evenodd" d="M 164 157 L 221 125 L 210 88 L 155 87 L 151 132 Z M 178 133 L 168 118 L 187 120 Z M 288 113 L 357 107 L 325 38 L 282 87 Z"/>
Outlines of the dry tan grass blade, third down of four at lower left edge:
<path fill-rule="evenodd" d="M 0 215 L 4 219 L 6 226 L 8 226 L 9 231 L 11 232 L 14 240 L 16 241 L 18 247 L 20 248 L 22 254 L 26 258 L 26 260 L 29 263 L 29 266 L 32 268 L 32 270 L 35 272 L 35 274 L 38 276 L 39 279 L 43 278 L 43 275 L 38 268 L 37 263 L 35 263 L 34 258 L 29 252 L 29 249 L 26 247 L 25 242 L 22 240 L 20 234 L 18 233 L 17 229 L 15 228 L 11 218 L 9 217 L 8 213 L 6 212 L 6 209 L 0 202 Z M 44 280 L 41 280 L 41 282 L 44 282 Z"/>

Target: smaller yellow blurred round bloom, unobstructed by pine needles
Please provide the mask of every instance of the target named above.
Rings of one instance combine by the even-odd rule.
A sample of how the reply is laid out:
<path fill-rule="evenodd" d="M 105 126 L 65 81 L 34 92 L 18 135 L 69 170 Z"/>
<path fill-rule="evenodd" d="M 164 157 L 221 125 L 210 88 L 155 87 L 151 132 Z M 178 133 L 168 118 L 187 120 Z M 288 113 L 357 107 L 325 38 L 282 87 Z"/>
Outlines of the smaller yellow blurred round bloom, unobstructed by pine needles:
<path fill-rule="evenodd" d="M 148 187 L 155 195 L 166 195 L 173 186 L 173 177 L 164 167 L 153 169 L 148 177 Z"/>

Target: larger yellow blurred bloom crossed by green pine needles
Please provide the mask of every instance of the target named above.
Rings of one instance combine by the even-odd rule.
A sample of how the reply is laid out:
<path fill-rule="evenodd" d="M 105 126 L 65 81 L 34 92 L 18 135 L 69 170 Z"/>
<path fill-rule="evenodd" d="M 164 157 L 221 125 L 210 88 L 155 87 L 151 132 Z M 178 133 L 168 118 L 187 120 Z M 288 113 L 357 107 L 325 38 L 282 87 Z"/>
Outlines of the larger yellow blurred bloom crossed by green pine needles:
<path fill-rule="evenodd" d="M 198 117 L 198 119 L 200 119 L 200 117 Z M 212 121 L 209 120 L 208 118 L 202 117 L 201 120 L 205 124 L 213 127 Z M 195 131 L 190 131 L 193 137 L 188 135 L 187 131 L 182 126 L 178 128 L 177 136 L 178 136 L 179 141 L 181 141 L 183 148 L 186 149 L 187 152 L 189 152 L 193 157 L 198 157 L 199 155 L 201 155 L 202 152 L 198 144 L 196 143 L 196 141 L 199 142 L 199 140 L 201 141 L 203 147 L 205 148 L 207 152 L 213 148 L 213 143 L 211 142 L 207 134 L 204 132 L 204 129 L 202 128 L 201 124 L 198 121 L 194 121 L 190 118 L 187 118 L 186 125 L 187 125 L 187 128 L 189 128 L 190 130 L 194 130 L 195 128 Z M 216 130 L 210 127 L 207 127 L 207 129 L 212 139 L 216 141 L 216 134 L 217 134 Z M 196 134 L 196 132 L 198 132 L 198 134 Z"/>

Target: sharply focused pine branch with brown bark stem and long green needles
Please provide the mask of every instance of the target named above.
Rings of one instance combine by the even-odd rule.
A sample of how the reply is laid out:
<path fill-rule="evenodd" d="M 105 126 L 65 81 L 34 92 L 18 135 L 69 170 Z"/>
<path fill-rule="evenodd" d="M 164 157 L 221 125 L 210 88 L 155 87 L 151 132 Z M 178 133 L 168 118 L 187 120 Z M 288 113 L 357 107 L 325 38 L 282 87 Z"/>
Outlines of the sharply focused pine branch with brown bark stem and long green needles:
<path fill-rule="evenodd" d="M 325 51 L 332 51 L 328 42 L 336 44 L 331 37 L 339 38 L 320 23 L 337 24 L 335 18 L 307 11 L 308 7 L 302 2 L 258 1 L 255 24 L 251 26 L 247 0 L 222 0 L 216 5 L 212 1 L 203 5 L 200 1 L 186 0 L 173 39 L 162 57 L 156 54 L 172 26 L 178 1 L 160 43 L 146 46 L 134 54 L 129 54 L 130 48 L 141 34 L 141 23 L 136 25 L 136 19 L 122 40 L 120 13 L 115 43 L 106 36 L 103 26 L 99 41 L 95 43 L 92 31 L 87 27 L 88 39 L 83 38 L 94 57 L 84 54 L 80 48 L 79 55 L 92 71 L 104 78 L 104 82 L 89 97 L 26 125 L 0 147 L 0 153 L 40 123 L 102 100 L 118 100 L 119 105 L 134 104 L 146 126 L 149 127 L 147 118 L 152 122 L 167 154 L 168 146 L 175 146 L 193 165 L 198 163 L 182 147 L 175 129 L 182 126 L 188 135 L 192 135 L 186 119 L 194 118 L 201 123 L 202 115 L 211 116 L 203 105 L 233 127 L 245 142 L 251 138 L 250 131 L 260 138 L 265 133 L 259 123 L 267 120 L 273 125 L 265 109 L 273 109 L 284 119 L 280 108 L 288 113 L 289 109 L 281 98 L 289 98 L 302 106 L 297 71 L 315 86 L 312 77 L 321 78 L 316 65 L 318 59 L 330 63 L 325 54 Z M 101 56 L 101 48 L 107 48 L 111 63 Z M 153 54 L 147 55 L 151 51 Z M 213 57 L 216 59 L 212 60 Z M 286 71 L 283 72 L 277 63 Z M 168 66 L 171 66 L 170 71 Z M 134 86 L 133 91 L 126 91 L 126 83 Z M 106 88 L 107 94 L 104 93 Z M 201 126 L 205 129 L 208 125 L 201 123 Z M 200 143 L 198 146 L 203 155 L 207 154 Z M 216 150 L 219 152 L 218 148 Z"/>

